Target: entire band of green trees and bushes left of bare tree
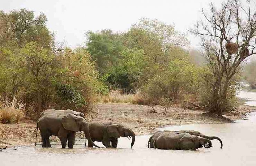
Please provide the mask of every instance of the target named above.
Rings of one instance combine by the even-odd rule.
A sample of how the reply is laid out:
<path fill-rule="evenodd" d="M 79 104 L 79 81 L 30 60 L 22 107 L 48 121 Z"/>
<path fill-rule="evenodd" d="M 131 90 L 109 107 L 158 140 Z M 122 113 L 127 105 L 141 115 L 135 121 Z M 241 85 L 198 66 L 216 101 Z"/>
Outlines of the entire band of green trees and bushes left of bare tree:
<path fill-rule="evenodd" d="M 141 18 L 127 32 L 89 31 L 86 45 L 71 49 L 58 46 L 46 22 L 43 13 L 26 9 L 0 12 L 0 99 L 16 98 L 25 115 L 88 110 L 115 88 L 136 94 L 132 103 L 207 102 L 201 92 L 209 90 L 212 73 L 173 25 Z"/>

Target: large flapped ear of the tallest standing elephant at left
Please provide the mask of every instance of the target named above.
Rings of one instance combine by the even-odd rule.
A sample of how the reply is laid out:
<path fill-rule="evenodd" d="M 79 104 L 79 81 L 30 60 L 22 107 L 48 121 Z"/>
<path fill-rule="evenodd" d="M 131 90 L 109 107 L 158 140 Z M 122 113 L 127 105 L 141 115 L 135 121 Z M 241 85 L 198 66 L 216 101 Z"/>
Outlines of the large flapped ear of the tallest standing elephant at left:
<path fill-rule="evenodd" d="M 61 119 L 61 123 L 62 123 L 63 127 L 66 130 L 79 131 L 79 127 L 77 126 L 77 123 L 76 123 L 76 117 L 77 116 L 75 116 L 71 113 L 68 113 L 65 116 L 63 116 Z"/>

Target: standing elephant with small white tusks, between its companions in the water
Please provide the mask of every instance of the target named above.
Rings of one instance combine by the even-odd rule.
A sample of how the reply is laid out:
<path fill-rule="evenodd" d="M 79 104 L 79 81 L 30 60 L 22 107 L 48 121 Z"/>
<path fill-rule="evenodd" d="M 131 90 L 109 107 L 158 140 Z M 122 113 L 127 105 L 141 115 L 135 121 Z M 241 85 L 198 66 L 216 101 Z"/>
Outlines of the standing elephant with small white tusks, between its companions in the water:
<path fill-rule="evenodd" d="M 106 148 L 116 148 L 117 139 L 120 137 L 127 137 L 128 139 L 132 138 L 131 148 L 135 141 L 134 132 L 126 126 L 118 123 L 92 120 L 89 122 L 89 131 L 92 141 L 102 142 Z M 88 147 L 93 147 L 92 143 L 89 141 Z"/>

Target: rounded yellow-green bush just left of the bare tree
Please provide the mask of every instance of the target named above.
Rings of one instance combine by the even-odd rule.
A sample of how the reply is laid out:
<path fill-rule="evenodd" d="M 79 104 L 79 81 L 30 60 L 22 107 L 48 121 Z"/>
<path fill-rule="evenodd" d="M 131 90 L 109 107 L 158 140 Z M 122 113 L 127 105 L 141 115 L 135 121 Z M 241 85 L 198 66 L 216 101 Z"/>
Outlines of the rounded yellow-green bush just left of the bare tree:
<path fill-rule="evenodd" d="M 199 70 L 188 61 L 174 59 L 142 88 L 145 104 L 161 104 L 161 99 L 181 100 L 196 93 Z"/>

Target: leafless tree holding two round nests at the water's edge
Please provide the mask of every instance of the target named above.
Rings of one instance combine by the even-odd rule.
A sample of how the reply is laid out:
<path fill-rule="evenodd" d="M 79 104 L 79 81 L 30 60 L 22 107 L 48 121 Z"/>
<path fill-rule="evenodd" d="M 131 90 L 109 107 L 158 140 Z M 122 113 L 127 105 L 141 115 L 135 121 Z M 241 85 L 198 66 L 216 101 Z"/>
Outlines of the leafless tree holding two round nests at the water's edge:
<path fill-rule="evenodd" d="M 255 1 L 254 1 L 255 2 Z M 200 36 L 214 81 L 211 84 L 209 112 L 222 116 L 227 110 L 227 92 L 240 63 L 256 54 L 256 11 L 251 0 L 227 0 L 218 10 L 202 10 L 203 18 L 189 31 Z"/>

